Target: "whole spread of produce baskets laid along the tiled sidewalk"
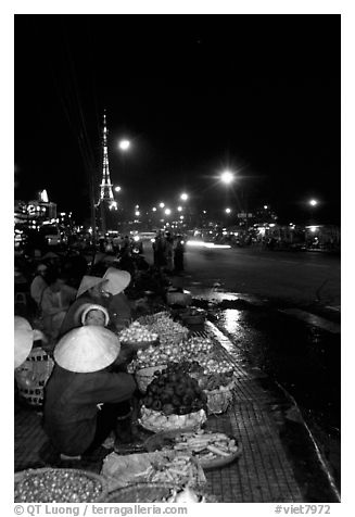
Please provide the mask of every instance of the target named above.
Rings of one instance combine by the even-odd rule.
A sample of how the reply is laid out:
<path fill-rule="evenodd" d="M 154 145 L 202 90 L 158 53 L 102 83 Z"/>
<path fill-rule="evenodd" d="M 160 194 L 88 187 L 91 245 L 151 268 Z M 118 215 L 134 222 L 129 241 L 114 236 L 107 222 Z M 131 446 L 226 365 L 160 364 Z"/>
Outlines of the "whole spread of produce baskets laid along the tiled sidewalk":
<path fill-rule="evenodd" d="M 212 337 L 194 336 L 168 310 L 139 318 L 118 338 L 137 352 L 129 371 L 141 391 L 138 421 L 148 437 L 141 452 L 107 450 L 96 477 L 78 469 L 16 474 L 15 501 L 42 502 L 45 493 L 46 502 L 218 501 L 206 490 L 205 471 L 242 454 L 238 437 L 206 428 L 232 401 L 231 365 Z"/>

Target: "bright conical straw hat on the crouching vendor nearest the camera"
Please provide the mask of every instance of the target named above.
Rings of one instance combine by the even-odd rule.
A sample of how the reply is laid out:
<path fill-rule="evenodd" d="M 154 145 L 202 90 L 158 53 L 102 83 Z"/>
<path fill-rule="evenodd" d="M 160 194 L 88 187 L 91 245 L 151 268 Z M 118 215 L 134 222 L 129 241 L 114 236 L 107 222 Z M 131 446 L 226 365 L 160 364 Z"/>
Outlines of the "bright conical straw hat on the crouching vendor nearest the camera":
<path fill-rule="evenodd" d="M 111 365 L 119 354 L 116 335 L 103 327 L 87 326 L 71 330 L 54 349 L 56 363 L 69 371 L 88 374 Z"/>

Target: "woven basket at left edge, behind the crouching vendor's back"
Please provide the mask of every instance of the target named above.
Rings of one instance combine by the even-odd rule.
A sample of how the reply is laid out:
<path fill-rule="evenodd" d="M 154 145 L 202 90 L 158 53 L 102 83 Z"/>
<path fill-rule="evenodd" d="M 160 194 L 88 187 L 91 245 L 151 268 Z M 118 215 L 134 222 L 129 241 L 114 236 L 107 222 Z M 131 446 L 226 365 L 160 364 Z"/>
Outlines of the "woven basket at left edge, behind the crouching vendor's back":
<path fill-rule="evenodd" d="M 43 390 L 54 363 L 41 348 L 30 351 L 26 361 L 15 369 L 15 379 L 20 395 L 33 406 L 43 403 Z"/>

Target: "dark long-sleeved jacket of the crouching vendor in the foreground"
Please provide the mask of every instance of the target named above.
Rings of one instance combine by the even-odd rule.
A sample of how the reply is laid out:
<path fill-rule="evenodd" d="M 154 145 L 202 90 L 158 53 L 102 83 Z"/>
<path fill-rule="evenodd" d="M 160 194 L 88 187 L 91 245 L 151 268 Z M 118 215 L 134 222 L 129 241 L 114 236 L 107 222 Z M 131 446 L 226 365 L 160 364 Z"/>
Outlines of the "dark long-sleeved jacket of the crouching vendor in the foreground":
<path fill-rule="evenodd" d="M 55 449 L 67 455 L 83 454 L 91 444 L 99 403 L 128 400 L 136 389 L 134 377 L 106 368 L 76 374 L 54 366 L 46 386 L 45 430 Z"/>

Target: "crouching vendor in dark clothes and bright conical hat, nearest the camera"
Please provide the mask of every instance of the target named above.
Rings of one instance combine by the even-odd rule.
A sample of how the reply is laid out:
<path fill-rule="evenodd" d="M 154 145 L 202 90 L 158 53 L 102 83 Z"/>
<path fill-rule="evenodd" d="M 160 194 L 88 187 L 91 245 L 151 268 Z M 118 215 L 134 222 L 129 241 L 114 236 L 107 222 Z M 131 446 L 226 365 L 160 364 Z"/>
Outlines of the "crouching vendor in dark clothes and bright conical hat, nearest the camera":
<path fill-rule="evenodd" d="M 94 451 L 114 430 L 117 443 L 131 440 L 134 377 L 112 370 L 119 341 L 109 329 L 89 325 L 67 332 L 54 349 L 46 386 L 45 430 L 61 459 L 75 462 Z"/>

